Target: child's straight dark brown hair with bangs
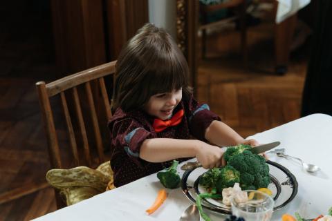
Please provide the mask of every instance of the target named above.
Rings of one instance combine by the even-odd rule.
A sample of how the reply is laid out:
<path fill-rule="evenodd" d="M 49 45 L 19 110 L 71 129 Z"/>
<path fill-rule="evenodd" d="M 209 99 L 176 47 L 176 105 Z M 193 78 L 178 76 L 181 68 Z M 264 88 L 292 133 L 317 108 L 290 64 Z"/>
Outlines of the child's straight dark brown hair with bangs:
<path fill-rule="evenodd" d="M 122 48 L 116 63 L 112 111 L 142 109 L 152 95 L 188 86 L 188 65 L 181 50 L 163 28 L 145 24 Z"/>

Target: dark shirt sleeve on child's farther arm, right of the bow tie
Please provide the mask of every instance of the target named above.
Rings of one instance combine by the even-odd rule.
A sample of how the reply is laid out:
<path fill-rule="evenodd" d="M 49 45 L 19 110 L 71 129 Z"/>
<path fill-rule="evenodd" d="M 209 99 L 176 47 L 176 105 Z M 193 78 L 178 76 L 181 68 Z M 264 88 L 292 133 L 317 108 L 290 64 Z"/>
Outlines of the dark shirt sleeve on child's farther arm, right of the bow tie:
<path fill-rule="evenodd" d="M 205 131 L 214 120 L 221 121 L 220 117 L 210 111 L 208 104 L 199 104 L 193 97 L 188 102 L 190 131 L 194 137 L 206 141 Z"/>

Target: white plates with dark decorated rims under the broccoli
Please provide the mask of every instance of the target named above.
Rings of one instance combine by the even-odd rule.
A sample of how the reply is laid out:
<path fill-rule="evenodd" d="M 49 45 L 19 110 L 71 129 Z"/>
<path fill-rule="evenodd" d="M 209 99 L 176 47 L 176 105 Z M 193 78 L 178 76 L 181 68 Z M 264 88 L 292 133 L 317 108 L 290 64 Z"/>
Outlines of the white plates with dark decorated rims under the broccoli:
<path fill-rule="evenodd" d="M 275 207 L 273 210 L 282 209 L 289 202 L 291 202 L 297 194 L 297 180 L 295 175 L 288 171 L 284 166 L 276 162 L 267 161 L 270 168 L 271 182 L 268 189 L 273 192 L 273 199 L 275 200 Z M 199 193 L 206 193 L 206 189 L 199 185 L 200 177 L 208 170 L 202 167 L 196 168 L 192 171 L 185 171 L 181 179 L 181 188 L 183 193 L 189 200 L 196 203 L 196 195 Z M 203 199 L 202 206 L 223 214 L 231 214 L 230 206 L 225 206 L 220 200 Z"/>

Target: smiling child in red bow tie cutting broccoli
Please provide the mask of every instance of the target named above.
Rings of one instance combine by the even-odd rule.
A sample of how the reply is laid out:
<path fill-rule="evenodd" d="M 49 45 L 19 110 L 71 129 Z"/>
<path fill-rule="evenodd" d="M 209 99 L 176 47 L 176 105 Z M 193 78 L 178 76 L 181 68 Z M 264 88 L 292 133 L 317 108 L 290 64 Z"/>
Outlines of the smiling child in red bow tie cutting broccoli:
<path fill-rule="evenodd" d="M 197 157 L 205 169 L 221 166 L 219 146 L 257 145 L 196 102 L 188 72 L 172 37 L 153 24 L 140 28 L 122 48 L 109 121 L 115 186 L 156 173 L 178 158 Z"/>

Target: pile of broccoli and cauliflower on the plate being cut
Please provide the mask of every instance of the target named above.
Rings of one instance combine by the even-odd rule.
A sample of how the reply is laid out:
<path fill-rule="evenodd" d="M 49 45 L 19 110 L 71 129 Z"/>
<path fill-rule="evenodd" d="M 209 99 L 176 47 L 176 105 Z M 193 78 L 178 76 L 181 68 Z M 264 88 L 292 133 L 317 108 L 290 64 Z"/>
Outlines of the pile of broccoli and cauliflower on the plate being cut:
<path fill-rule="evenodd" d="M 247 148 L 250 146 L 244 144 L 228 147 L 223 155 L 226 166 L 209 169 L 199 178 L 199 184 L 208 191 L 208 193 L 199 194 L 196 198 L 196 204 L 204 220 L 210 220 L 210 218 L 201 209 L 202 198 L 222 200 L 223 204 L 230 206 L 231 198 L 237 202 L 248 201 L 248 195 L 242 189 L 260 189 L 272 195 L 272 191 L 267 189 L 270 184 L 270 175 L 266 160 L 261 155 L 246 150 Z"/>

